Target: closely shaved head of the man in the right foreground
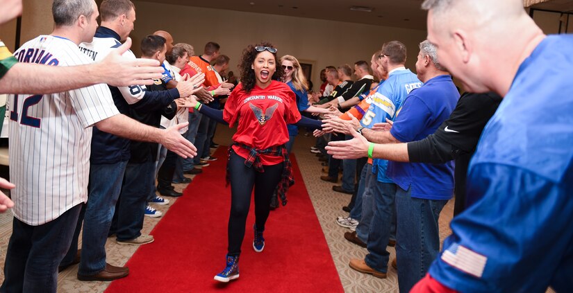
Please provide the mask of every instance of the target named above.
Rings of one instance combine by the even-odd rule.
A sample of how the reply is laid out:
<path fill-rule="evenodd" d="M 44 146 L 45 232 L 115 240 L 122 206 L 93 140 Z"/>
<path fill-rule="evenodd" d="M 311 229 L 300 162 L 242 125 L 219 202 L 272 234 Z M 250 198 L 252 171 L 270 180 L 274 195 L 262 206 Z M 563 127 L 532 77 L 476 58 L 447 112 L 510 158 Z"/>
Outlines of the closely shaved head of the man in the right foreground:
<path fill-rule="evenodd" d="M 472 92 L 508 90 L 542 32 L 522 0 L 426 0 L 438 60 Z"/>

